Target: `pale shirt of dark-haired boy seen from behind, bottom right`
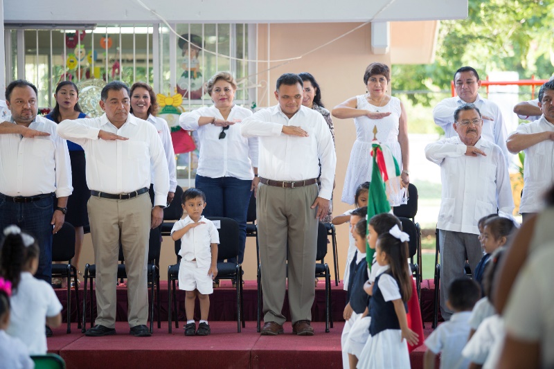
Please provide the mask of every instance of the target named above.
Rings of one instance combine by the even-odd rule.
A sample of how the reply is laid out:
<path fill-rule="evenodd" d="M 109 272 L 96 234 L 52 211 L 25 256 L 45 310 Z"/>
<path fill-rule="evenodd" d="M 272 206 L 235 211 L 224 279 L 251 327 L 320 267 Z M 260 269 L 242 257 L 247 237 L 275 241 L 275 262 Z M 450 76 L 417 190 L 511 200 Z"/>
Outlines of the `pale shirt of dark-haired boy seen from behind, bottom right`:
<path fill-rule="evenodd" d="M 425 340 L 425 345 L 431 352 L 440 352 L 440 368 L 467 369 L 470 361 L 462 356 L 462 350 L 470 336 L 471 312 L 452 314 L 449 321 L 439 325 Z"/>

